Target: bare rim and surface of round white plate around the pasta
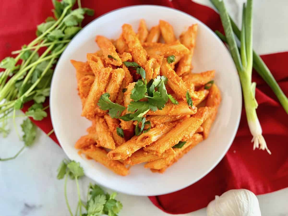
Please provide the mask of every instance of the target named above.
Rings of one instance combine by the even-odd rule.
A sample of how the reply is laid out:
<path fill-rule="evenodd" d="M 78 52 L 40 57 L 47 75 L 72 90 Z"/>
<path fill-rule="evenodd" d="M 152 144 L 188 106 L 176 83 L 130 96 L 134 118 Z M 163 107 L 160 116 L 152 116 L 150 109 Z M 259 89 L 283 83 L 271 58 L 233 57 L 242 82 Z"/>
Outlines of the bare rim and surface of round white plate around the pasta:
<path fill-rule="evenodd" d="M 96 35 L 117 39 L 121 26 L 129 23 L 137 31 L 139 20 L 146 20 L 148 28 L 159 19 L 174 27 L 176 36 L 188 26 L 198 23 L 198 36 L 193 56 L 194 72 L 215 69 L 215 83 L 222 94 L 222 102 L 208 139 L 166 170 L 164 174 L 152 173 L 143 164 L 133 166 L 130 175 L 114 174 L 102 164 L 87 160 L 77 154 L 74 144 L 90 122 L 81 117 L 81 101 L 77 94 L 75 69 L 70 59 L 86 61 L 86 53 L 98 50 Z M 233 60 L 218 37 L 202 22 L 181 11 L 160 6 L 124 7 L 105 14 L 88 24 L 70 42 L 61 55 L 54 71 L 50 111 L 56 136 L 71 160 L 81 163 L 85 174 L 97 183 L 118 192 L 139 196 L 160 195 L 187 187 L 209 173 L 230 147 L 240 120 L 242 96 L 240 82 Z"/>

